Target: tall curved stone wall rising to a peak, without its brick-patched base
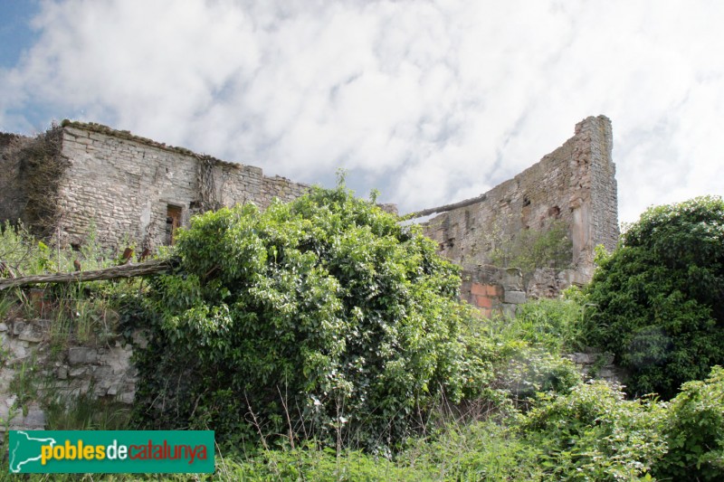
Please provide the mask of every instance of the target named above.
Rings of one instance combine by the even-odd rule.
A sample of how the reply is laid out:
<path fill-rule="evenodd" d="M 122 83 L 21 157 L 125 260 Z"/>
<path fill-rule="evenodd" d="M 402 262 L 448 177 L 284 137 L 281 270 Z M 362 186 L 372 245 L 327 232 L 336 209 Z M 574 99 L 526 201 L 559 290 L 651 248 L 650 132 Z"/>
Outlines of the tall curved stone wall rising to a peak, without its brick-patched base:
<path fill-rule="evenodd" d="M 585 283 L 594 248 L 613 250 L 618 239 L 611 121 L 586 118 L 574 137 L 471 203 L 434 217 L 424 233 L 444 257 L 462 265 L 491 263 L 496 243 L 510 243 L 523 230 L 544 230 L 559 220 L 568 226 L 573 255 L 566 278 Z"/>

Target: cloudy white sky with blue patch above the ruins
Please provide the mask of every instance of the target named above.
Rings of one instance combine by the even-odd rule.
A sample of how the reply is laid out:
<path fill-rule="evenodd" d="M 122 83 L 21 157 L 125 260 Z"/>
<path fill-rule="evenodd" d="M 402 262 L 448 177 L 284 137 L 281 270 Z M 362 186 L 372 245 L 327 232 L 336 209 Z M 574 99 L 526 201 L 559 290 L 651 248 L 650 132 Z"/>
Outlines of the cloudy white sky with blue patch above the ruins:
<path fill-rule="evenodd" d="M 71 118 L 400 213 L 612 119 L 619 220 L 724 194 L 720 0 L 0 0 L 0 131 Z"/>

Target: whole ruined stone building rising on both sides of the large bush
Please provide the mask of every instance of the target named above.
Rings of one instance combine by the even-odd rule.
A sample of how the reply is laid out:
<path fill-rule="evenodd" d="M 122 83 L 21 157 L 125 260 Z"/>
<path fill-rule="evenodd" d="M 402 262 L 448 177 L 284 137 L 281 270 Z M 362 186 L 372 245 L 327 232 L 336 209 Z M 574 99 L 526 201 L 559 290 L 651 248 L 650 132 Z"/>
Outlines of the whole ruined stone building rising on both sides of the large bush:
<path fill-rule="evenodd" d="M 586 118 L 563 146 L 488 193 L 418 213 L 440 213 L 424 223 L 424 232 L 466 269 L 463 298 L 484 310 L 501 309 L 526 292 L 549 296 L 590 279 L 595 246 L 613 250 L 618 238 L 611 154 L 610 120 Z M 259 167 L 67 120 L 39 137 L 1 134 L 0 157 L 0 220 L 22 220 L 71 245 L 93 229 L 105 245 L 153 249 L 172 243 L 176 227 L 194 213 L 246 202 L 264 208 L 273 197 L 290 201 L 308 188 L 263 175 Z M 486 266 L 491 232 L 510 242 L 554 221 L 565 224 L 571 241 L 567 269 L 523 280 Z"/>

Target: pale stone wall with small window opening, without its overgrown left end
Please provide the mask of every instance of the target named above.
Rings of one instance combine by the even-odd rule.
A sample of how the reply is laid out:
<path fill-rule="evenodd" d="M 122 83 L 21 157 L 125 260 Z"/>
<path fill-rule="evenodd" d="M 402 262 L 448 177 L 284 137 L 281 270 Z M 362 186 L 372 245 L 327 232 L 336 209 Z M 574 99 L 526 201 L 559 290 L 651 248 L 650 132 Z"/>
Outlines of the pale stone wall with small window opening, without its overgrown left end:
<path fill-rule="evenodd" d="M 166 244 L 169 210 L 186 225 L 194 213 L 221 205 L 289 201 L 308 186 L 262 169 L 201 156 L 96 124 L 63 123 L 62 154 L 71 167 L 59 203 L 62 242 L 81 244 L 94 231 L 101 243 Z"/>

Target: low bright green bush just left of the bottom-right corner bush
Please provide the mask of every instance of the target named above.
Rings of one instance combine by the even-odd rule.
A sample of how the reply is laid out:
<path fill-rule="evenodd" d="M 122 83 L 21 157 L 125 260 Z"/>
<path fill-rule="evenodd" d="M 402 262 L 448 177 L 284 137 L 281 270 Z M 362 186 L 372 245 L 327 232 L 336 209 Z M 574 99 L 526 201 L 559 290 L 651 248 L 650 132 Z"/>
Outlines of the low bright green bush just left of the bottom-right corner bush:
<path fill-rule="evenodd" d="M 665 411 L 653 401 L 625 401 L 605 382 L 567 394 L 542 393 L 521 417 L 519 436 L 538 448 L 548 479 L 637 480 L 665 451 Z"/>

